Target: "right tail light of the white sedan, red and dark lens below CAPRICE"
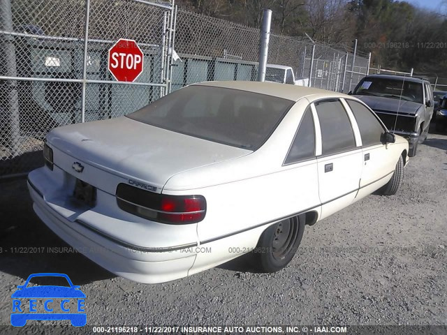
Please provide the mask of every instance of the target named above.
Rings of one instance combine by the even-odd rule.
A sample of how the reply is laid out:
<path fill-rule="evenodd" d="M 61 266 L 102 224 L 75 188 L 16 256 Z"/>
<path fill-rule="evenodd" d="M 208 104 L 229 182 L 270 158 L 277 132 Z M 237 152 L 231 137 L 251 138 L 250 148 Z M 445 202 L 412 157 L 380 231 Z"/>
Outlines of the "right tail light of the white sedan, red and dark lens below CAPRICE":
<path fill-rule="evenodd" d="M 117 204 L 136 216 L 179 225 L 202 221 L 206 213 L 202 195 L 163 195 L 127 184 L 118 185 Z"/>

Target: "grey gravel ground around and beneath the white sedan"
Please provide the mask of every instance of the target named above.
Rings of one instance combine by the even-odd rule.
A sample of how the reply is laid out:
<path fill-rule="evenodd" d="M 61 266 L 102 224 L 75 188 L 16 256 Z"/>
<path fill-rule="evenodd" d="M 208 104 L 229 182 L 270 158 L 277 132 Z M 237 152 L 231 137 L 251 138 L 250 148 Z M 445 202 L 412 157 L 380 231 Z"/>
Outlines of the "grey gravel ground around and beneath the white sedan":
<path fill-rule="evenodd" d="M 247 270 L 241 258 L 158 285 L 116 277 L 70 251 L 12 251 L 67 245 L 34 214 L 23 179 L 3 182 L 0 325 L 9 325 L 16 285 L 44 271 L 81 285 L 88 325 L 447 325 L 446 150 L 447 136 L 430 134 L 397 195 L 370 195 L 307 226 L 276 274 Z"/>

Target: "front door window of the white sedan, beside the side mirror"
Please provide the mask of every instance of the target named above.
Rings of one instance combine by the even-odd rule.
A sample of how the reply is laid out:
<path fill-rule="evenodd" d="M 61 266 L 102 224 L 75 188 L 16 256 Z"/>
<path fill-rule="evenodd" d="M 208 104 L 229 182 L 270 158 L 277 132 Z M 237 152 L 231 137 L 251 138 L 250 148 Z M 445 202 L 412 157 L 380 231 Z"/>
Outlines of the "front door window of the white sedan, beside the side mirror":
<path fill-rule="evenodd" d="M 379 120 L 361 103 L 353 100 L 346 100 L 346 103 L 348 103 L 354 117 L 356 117 L 360 135 L 362 136 L 362 144 L 364 146 L 379 144 L 382 134 L 385 133 Z"/>

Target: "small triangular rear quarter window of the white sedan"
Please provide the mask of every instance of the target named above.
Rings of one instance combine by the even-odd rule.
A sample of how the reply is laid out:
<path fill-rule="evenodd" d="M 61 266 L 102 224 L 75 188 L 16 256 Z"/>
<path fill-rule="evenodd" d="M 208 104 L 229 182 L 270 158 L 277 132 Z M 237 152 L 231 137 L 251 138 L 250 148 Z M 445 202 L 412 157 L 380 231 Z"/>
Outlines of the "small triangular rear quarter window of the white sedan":
<path fill-rule="evenodd" d="M 310 108 L 302 117 L 300 126 L 284 164 L 296 163 L 315 157 L 315 126 Z"/>

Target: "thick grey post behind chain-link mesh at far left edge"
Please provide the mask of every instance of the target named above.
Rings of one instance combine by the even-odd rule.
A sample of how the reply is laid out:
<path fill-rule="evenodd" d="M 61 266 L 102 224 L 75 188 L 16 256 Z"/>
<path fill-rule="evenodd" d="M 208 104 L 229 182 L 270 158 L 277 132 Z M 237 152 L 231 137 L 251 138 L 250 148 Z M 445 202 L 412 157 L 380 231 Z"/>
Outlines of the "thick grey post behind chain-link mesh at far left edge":
<path fill-rule="evenodd" d="M 13 31 L 13 14 L 11 11 L 10 0 L 1 0 L 0 2 L 0 28 L 4 31 Z M 15 61 L 15 45 L 13 36 L 3 36 L 5 68 L 8 77 L 17 77 L 17 63 Z M 13 151 L 12 156 L 20 154 L 20 117 L 19 117 L 19 94 L 17 92 L 17 80 L 10 81 L 8 90 L 7 107 L 5 116 L 10 114 L 10 148 Z M 0 110 L 1 112 L 1 110 Z M 8 113 L 9 112 L 9 113 Z M 8 136 L 8 135 L 7 135 Z"/>

